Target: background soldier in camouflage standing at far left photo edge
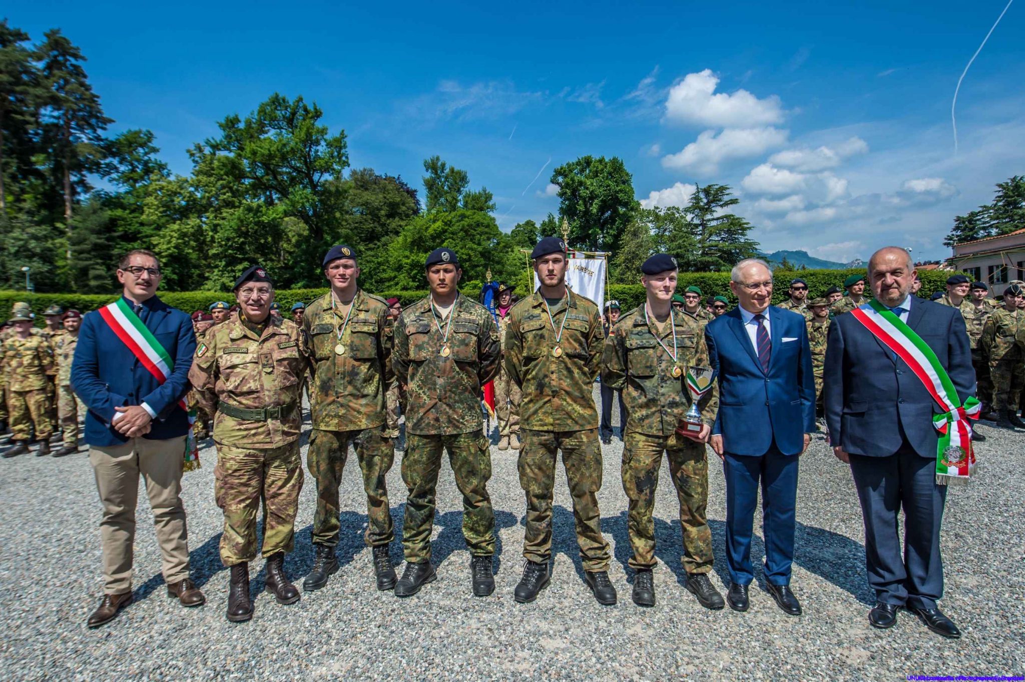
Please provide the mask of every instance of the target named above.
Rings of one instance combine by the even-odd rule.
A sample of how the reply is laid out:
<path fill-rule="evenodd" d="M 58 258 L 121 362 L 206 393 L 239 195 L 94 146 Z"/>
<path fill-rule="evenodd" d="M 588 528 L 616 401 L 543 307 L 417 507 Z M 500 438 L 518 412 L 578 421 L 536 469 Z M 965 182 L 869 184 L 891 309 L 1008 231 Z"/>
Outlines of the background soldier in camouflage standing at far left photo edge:
<path fill-rule="evenodd" d="M 50 454 L 53 426 L 48 416 L 46 386 L 56 374 L 53 349 L 42 334 L 32 333 L 32 317 L 16 308 L 10 317 L 14 334 L 4 340 L 0 373 L 7 377 L 7 410 L 13 445 L 3 454 L 15 457 L 29 452 L 29 436 L 35 430 L 39 441 L 37 457 Z"/>

